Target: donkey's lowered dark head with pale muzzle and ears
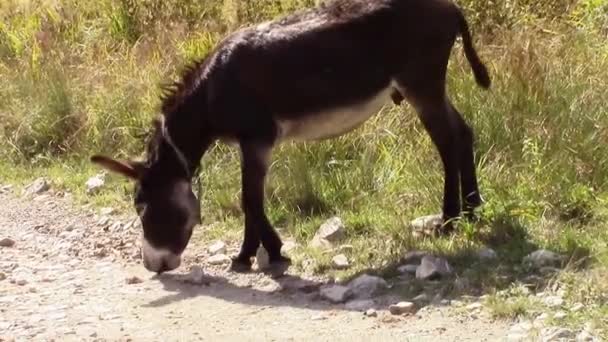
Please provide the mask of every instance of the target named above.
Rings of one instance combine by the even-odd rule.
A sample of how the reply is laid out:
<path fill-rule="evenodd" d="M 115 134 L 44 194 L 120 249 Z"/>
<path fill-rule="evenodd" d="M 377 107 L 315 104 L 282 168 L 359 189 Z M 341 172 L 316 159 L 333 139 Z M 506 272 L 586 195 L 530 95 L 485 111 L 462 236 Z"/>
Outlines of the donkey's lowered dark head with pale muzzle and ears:
<path fill-rule="evenodd" d="M 91 161 L 135 182 L 134 206 L 143 227 L 144 266 L 157 273 L 177 268 L 194 227 L 200 224 L 200 204 L 192 191 L 184 156 L 170 137 L 162 129 L 156 130 L 147 162 L 101 155 L 91 157 Z"/>

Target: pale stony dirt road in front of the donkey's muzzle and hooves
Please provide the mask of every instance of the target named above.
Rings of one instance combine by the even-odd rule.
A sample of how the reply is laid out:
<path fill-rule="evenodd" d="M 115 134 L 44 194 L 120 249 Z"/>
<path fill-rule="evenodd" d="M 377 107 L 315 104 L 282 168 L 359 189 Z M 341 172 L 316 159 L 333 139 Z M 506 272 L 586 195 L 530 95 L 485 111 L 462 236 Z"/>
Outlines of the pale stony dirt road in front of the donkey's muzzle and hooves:
<path fill-rule="evenodd" d="M 204 246 L 157 277 L 139 263 L 132 217 L 69 198 L 0 194 L 0 341 L 500 341 L 509 325 L 428 306 L 394 316 L 347 310 L 297 276 L 274 281 L 206 264 Z M 199 254 L 197 254 L 199 253 Z M 198 270 L 190 271 L 191 265 Z M 200 274 L 200 269 L 205 275 Z M 199 272 L 197 274 L 197 272 Z"/>

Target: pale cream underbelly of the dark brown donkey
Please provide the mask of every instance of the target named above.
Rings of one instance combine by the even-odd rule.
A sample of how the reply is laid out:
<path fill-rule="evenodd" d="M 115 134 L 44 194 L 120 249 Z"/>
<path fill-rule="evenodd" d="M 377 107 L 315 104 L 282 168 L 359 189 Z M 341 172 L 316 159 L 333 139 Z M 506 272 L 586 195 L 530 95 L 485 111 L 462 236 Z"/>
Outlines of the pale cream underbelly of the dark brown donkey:
<path fill-rule="evenodd" d="M 327 108 L 325 110 L 302 114 L 299 118 L 279 120 L 281 140 L 319 140 L 340 136 L 363 124 L 378 113 L 395 90 L 391 82 L 376 95 L 357 104 Z"/>

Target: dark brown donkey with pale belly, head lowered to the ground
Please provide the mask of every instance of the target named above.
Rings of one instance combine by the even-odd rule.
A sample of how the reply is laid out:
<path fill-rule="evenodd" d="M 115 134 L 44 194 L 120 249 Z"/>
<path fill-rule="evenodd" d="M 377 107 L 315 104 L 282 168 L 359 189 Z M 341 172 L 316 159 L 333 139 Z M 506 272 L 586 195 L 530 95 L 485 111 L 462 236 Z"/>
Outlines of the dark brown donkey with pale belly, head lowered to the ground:
<path fill-rule="evenodd" d="M 261 242 L 269 269 L 284 269 L 290 261 L 264 209 L 273 147 L 345 134 L 391 99 L 413 105 L 441 155 L 444 222 L 460 216 L 461 201 L 468 212 L 479 206 L 473 134 L 445 90 L 458 35 L 477 83 L 488 88 L 467 23 L 448 0 L 338 0 L 229 35 L 169 89 L 147 160 L 92 157 L 135 181 L 145 267 L 179 266 L 200 223 L 191 180 L 221 140 L 237 143 L 242 156 L 245 236 L 232 267 L 250 269 Z"/>

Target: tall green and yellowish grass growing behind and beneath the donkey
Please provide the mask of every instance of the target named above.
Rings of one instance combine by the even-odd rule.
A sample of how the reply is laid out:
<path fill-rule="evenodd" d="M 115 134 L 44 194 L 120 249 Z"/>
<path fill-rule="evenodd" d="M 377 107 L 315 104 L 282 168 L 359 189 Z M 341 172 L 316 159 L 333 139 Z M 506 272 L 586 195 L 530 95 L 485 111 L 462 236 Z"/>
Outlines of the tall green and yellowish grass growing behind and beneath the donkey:
<path fill-rule="evenodd" d="M 99 195 L 84 193 L 86 179 L 99 172 L 88 156 L 140 154 L 158 112 L 159 83 L 227 32 L 313 3 L 2 2 L 0 182 L 24 184 L 44 175 L 79 201 L 131 210 L 130 184 L 113 175 Z M 410 220 L 439 211 L 442 172 L 408 105 L 387 105 L 338 139 L 278 148 L 268 179 L 269 217 L 283 236 L 304 246 L 324 220 L 342 217 L 344 243 L 354 246 L 347 253 L 351 269 L 333 271 L 333 254 L 307 247 L 296 258 L 313 259 L 308 268 L 338 277 L 390 269 L 405 251 L 425 249 L 450 257 L 483 293 L 496 293 L 528 274 L 521 269 L 524 255 L 548 248 L 572 262 L 543 286 L 559 284 L 570 302 L 596 305 L 580 321 L 602 317 L 608 310 L 608 5 L 460 4 L 493 80 L 490 91 L 478 88 L 456 44 L 448 89 L 476 134 L 487 201 L 480 222 L 463 224 L 449 238 L 410 233 Z M 217 145 L 202 163 L 208 237 L 240 239 L 238 153 Z M 482 246 L 497 250 L 500 267 L 472 264 Z M 525 300 L 510 298 L 489 304 L 497 316 L 528 311 Z"/>

